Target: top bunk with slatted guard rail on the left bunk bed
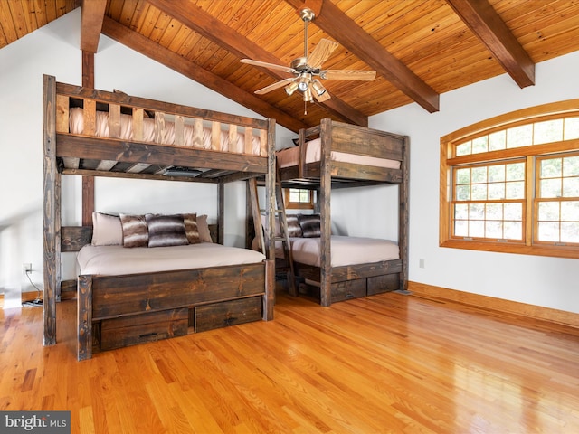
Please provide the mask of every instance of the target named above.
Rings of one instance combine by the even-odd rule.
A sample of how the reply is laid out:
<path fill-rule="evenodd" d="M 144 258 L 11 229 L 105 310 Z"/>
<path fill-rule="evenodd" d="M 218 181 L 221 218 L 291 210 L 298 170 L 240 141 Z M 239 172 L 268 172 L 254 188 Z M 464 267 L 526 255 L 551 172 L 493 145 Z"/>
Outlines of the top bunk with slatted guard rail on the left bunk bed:
<path fill-rule="evenodd" d="M 232 182 L 270 170 L 275 121 L 60 83 L 44 76 L 45 134 L 63 175 Z M 52 136 L 53 135 L 53 136 Z"/>

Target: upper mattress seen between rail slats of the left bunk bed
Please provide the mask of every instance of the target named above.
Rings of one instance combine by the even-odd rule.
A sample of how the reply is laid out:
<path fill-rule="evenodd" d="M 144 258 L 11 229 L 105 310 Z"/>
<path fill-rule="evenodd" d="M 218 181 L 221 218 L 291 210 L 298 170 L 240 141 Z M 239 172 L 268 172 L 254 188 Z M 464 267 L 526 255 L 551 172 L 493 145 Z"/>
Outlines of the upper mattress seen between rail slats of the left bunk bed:
<path fill-rule="evenodd" d="M 97 111 L 95 121 L 95 137 L 110 137 L 109 134 L 109 113 L 106 111 Z M 122 140 L 132 140 L 133 138 L 133 118 L 129 115 L 120 115 L 120 138 Z M 84 115 L 83 109 L 71 108 L 69 114 L 69 131 L 71 134 L 83 134 L 84 129 Z M 203 128 L 201 134 L 198 134 L 200 139 L 195 141 L 195 127 L 193 125 L 185 124 L 184 127 L 184 143 L 186 147 L 198 147 L 201 149 L 211 149 L 211 128 Z M 245 153 L 245 136 L 244 134 L 237 135 L 236 143 L 229 143 L 229 132 L 222 130 L 220 140 L 220 151 Z M 157 143 L 157 131 L 155 128 L 155 119 L 143 119 L 143 142 Z M 160 134 L 160 142 L 162 145 L 174 145 L 175 143 L 175 123 L 165 122 L 165 127 Z M 261 153 L 261 138 L 258 136 L 252 137 L 252 155 L 259 156 Z"/>

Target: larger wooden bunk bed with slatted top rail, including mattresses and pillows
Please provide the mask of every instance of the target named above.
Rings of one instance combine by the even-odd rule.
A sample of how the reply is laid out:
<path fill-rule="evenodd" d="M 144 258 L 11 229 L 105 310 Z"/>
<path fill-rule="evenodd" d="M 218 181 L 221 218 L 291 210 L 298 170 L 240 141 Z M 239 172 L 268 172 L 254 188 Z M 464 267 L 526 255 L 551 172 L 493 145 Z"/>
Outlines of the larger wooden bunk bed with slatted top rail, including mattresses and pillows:
<path fill-rule="evenodd" d="M 60 83 L 45 75 L 44 344 L 56 344 L 56 302 L 66 291 L 76 291 L 79 360 L 89 359 L 93 351 L 248 321 L 271 320 L 274 259 L 220 244 L 223 244 L 224 185 L 260 177 L 265 178 L 266 191 L 273 191 L 274 128 L 275 122 L 271 119 L 233 116 L 130 97 L 118 91 L 92 90 Z M 62 226 L 62 175 L 82 176 L 81 226 Z M 216 184 L 217 223 L 206 225 L 195 210 L 172 216 L 111 216 L 97 212 L 90 188 L 90 185 L 94 188 L 95 176 Z M 272 209 L 270 200 L 267 219 L 272 219 Z M 103 225 L 103 219 L 107 224 Z M 138 241 L 132 244 L 135 247 L 130 247 L 129 241 L 137 241 L 138 237 L 130 238 L 135 233 L 128 231 L 129 224 L 140 224 L 143 219 L 147 242 L 139 245 Z M 256 223 L 261 226 L 261 222 Z M 112 224 L 120 228 L 116 233 L 121 231 L 122 241 L 110 241 L 115 237 L 109 231 Z M 188 228 L 185 241 L 181 232 L 170 242 L 158 238 L 163 234 L 162 229 L 171 224 L 176 224 L 178 231 L 182 225 Z M 154 227 L 161 229 L 154 233 Z M 189 238 L 190 234 L 193 239 Z M 158 247 L 153 247 L 151 240 L 155 240 Z M 136 255 L 133 262 L 147 260 L 151 266 L 131 269 L 128 263 L 119 265 L 121 259 L 115 259 L 114 269 L 100 264 L 82 269 L 76 280 L 62 280 L 62 253 L 82 251 L 77 255 L 80 266 L 84 267 L 92 260 L 87 259 L 89 253 L 82 250 L 85 248 L 108 250 L 106 254 L 100 250 L 101 256 L 108 256 L 109 250 L 118 250 L 121 259 Z M 204 259 L 210 256 L 210 250 L 217 250 L 213 254 L 217 259 L 229 258 L 235 253 L 233 250 L 253 256 L 226 263 L 205 260 L 176 265 L 178 257 L 194 255 L 190 250 L 185 253 L 185 249 L 190 248 L 201 251 L 195 254 Z M 141 256 L 152 252 L 160 255 L 161 251 L 170 249 L 182 250 L 174 252 L 172 257 L 169 255 L 165 260 L 167 267 L 160 265 L 161 259 Z"/>

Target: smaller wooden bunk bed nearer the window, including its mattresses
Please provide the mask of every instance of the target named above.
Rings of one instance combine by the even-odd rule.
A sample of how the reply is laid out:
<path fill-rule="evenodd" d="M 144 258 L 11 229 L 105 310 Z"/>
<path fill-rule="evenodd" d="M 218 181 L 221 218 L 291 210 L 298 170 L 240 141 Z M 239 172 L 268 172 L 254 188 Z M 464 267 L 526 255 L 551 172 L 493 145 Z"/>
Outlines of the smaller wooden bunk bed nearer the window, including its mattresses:
<path fill-rule="evenodd" d="M 314 233 L 313 238 L 297 238 L 289 243 L 300 291 L 319 297 L 322 306 L 330 306 L 336 301 L 407 288 L 408 137 L 326 118 L 316 127 L 301 129 L 297 146 L 278 151 L 277 166 L 278 181 L 284 188 L 318 192 L 319 236 Z M 333 249 L 353 250 L 344 246 L 347 237 L 331 234 L 332 188 L 376 184 L 395 184 L 399 189 L 398 240 L 394 249 L 392 242 L 384 241 L 386 245 L 379 249 L 390 252 L 382 259 L 338 261 Z M 306 247 L 306 254 L 300 251 L 304 243 L 312 241 L 318 255 L 312 254 L 311 247 Z M 370 250 L 364 247 L 366 241 L 355 240 L 356 249 Z"/>

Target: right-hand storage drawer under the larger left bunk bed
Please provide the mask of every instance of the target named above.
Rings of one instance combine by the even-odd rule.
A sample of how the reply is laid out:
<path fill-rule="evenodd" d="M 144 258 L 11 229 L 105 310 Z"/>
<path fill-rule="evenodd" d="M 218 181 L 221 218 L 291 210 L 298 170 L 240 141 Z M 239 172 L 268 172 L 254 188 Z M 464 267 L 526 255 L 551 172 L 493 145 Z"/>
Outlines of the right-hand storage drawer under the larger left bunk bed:
<path fill-rule="evenodd" d="M 195 306 L 192 310 L 195 333 L 259 321 L 263 316 L 261 297 L 240 298 Z"/>

